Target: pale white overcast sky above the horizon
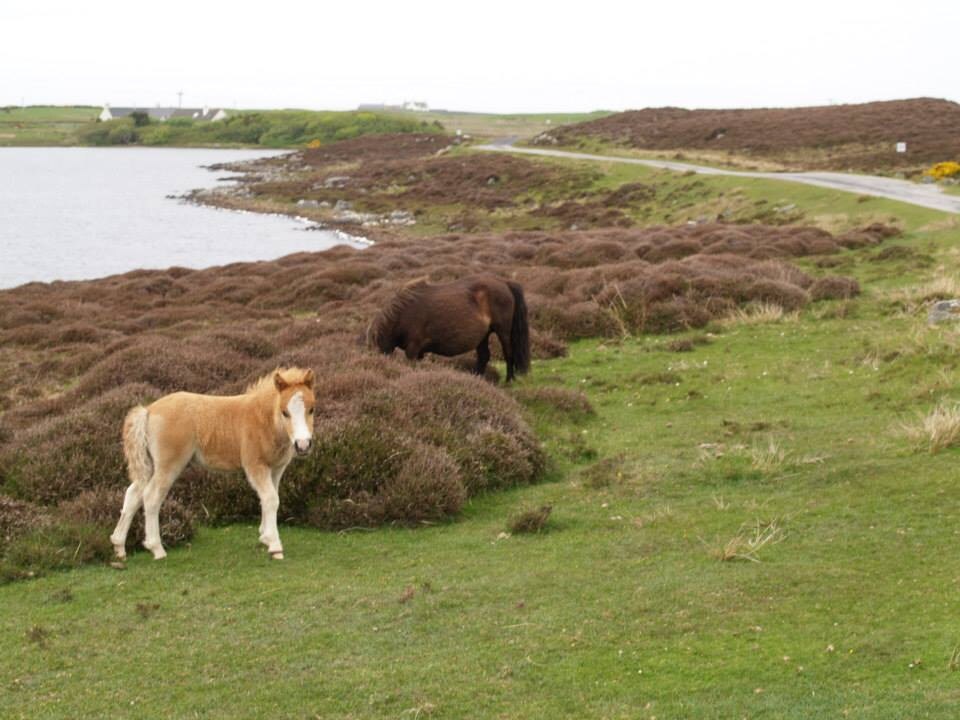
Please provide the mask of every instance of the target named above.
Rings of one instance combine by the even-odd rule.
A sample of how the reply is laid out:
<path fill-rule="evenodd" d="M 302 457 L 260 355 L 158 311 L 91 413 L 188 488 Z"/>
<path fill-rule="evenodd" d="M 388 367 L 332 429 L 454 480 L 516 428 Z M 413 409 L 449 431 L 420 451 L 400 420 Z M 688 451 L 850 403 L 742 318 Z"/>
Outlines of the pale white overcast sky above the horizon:
<path fill-rule="evenodd" d="M 960 100 L 960 0 L 0 2 L 0 105 Z"/>

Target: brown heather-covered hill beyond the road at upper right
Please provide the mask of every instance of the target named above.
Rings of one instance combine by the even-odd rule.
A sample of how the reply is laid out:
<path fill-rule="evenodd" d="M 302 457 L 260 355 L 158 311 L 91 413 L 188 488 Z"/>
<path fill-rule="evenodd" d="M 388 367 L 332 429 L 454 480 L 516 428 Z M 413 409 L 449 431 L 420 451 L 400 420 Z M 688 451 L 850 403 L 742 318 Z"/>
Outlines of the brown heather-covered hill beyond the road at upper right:
<path fill-rule="evenodd" d="M 795 169 L 914 171 L 960 158 L 960 105 L 918 98 L 750 110 L 647 108 L 556 128 L 537 144 L 600 140 L 656 151 L 699 150 Z M 907 143 L 906 153 L 895 144 Z"/>

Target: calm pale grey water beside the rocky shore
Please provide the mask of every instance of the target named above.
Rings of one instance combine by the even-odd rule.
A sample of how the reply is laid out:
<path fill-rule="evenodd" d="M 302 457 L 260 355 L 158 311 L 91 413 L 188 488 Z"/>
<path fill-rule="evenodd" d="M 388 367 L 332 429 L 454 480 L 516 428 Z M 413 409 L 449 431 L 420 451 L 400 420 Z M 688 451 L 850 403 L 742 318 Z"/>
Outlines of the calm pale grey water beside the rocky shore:
<path fill-rule="evenodd" d="M 0 287 L 136 268 L 202 268 L 323 250 L 351 239 L 288 217 L 167 195 L 217 185 L 200 167 L 260 150 L 0 148 Z M 358 244 L 353 241 L 352 244 Z"/>

